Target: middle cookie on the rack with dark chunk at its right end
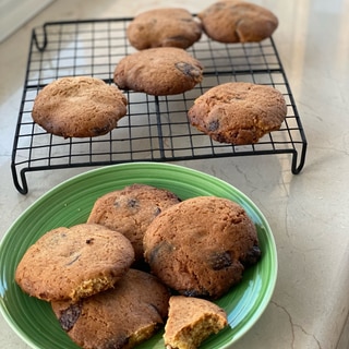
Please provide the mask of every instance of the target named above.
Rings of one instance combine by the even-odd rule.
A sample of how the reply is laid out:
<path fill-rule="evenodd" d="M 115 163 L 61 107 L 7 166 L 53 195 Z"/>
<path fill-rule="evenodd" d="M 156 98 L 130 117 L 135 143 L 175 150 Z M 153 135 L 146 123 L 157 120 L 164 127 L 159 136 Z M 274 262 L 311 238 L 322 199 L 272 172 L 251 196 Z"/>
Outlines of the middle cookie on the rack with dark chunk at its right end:
<path fill-rule="evenodd" d="M 127 56 L 113 74 L 119 88 L 154 96 L 181 94 L 194 88 L 202 79 L 202 64 L 176 47 L 149 48 Z"/>

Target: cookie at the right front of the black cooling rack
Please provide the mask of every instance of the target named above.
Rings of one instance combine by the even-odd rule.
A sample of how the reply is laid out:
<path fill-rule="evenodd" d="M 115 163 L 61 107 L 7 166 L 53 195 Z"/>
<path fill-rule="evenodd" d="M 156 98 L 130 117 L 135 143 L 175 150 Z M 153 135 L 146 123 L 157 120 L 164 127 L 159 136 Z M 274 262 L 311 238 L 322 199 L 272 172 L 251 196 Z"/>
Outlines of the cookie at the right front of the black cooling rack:
<path fill-rule="evenodd" d="M 253 144 L 279 130 L 287 115 L 282 94 L 266 85 L 227 83 L 208 89 L 188 111 L 190 123 L 220 143 Z"/>

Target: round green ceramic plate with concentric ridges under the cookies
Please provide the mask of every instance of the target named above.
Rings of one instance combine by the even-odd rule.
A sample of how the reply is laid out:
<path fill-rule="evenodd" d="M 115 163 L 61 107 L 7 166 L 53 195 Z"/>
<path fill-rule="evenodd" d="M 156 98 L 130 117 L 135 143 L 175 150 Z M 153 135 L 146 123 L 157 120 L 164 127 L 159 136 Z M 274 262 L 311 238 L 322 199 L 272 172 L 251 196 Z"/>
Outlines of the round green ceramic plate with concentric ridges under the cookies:
<path fill-rule="evenodd" d="M 229 326 L 209 337 L 202 349 L 229 347 L 244 335 L 267 306 L 277 277 L 277 254 L 269 225 L 260 209 L 232 185 L 184 167 L 134 163 L 116 165 L 74 177 L 50 190 L 12 225 L 0 245 L 0 310 L 13 330 L 32 348 L 79 348 L 60 328 L 50 305 L 23 293 L 14 282 L 17 263 L 27 248 L 46 231 L 84 222 L 95 200 L 132 183 L 165 188 L 182 200 L 198 195 L 228 197 L 242 205 L 257 228 L 262 260 L 244 273 L 243 280 L 217 303 Z M 161 333 L 139 348 L 161 348 Z"/>

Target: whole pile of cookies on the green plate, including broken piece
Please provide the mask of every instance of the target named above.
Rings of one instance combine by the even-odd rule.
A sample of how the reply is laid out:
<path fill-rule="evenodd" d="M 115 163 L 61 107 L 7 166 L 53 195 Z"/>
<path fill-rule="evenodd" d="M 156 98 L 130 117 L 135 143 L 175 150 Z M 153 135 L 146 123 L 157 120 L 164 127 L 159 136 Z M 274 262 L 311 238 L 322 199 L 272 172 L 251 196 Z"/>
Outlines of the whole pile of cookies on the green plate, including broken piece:
<path fill-rule="evenodd" d="M 15 281 L 82 348 L 133 348 L 166 324 L 166 348 L 194 349 L 227 326 L 212 300 L 260 254 L 240 205 L 133 184 L 99 197 L 85 224 L 45 233 Z"/>

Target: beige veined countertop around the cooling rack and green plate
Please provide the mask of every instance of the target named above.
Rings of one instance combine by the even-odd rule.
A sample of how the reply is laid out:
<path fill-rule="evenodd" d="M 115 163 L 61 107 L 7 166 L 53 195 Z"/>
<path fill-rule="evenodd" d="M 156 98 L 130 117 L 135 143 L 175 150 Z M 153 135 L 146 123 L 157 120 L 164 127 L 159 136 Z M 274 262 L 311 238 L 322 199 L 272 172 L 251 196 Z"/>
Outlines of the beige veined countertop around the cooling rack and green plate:
<path fill-rule="evenodd" d="M 250 196 L 273 229 L 279 260 L 276 289 L 258 322 L 232 348 L 349 348 L 349 1 L 254 0 L 273 10 L 274 35 L 306 133 L 300 174 L 290 158 L 236 157 L 182 161 Z M 177 1 L 198 12 L 209 0 Z M 31 29 L 48 21 L 133 16 L 171 1 L 57 0 L 0 44 L 0 238 L 47 190 L 87 169 L 29 174 L 21 195 L 10 171 Z M 28 348 L 0 316 L 0 347 Z M 53 348 L 45 348 L 53 349 Z"/>

